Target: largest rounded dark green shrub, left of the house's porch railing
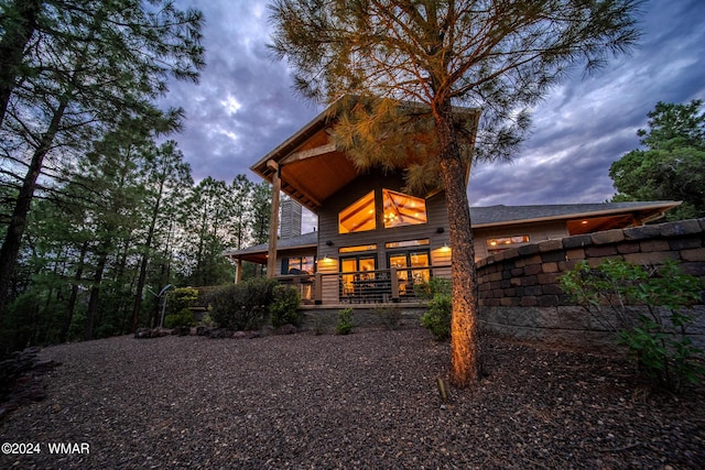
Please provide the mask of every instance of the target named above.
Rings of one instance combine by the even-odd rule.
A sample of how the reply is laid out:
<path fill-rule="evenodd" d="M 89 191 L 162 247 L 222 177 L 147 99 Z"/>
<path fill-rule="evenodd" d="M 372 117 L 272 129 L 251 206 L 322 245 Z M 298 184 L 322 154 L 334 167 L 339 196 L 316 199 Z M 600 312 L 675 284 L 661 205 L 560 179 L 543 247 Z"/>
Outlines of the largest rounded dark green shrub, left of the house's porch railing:
<path fill-rule="evenodd" d="M 219 287 L 208 297 L 210 317 L 221 328 L 258 329 L 264 323 L 275 285 L 272 280 L 252 278 Z"/>

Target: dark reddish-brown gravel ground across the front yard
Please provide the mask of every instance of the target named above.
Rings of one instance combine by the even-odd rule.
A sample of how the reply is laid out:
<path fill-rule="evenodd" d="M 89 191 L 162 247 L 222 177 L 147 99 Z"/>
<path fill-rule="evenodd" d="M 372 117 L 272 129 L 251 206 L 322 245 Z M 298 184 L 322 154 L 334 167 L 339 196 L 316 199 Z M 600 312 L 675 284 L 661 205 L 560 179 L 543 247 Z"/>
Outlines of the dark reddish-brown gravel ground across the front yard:
<path fill-rule="evenodd" d="M 488 375 L 441 406 L 449 346 L 420 328 L 51 347 L 46 400 L 0 423 L 41 453 L 0 468 L 705 468 L 702 386 L 675 398 L 607 356 L 484 348 Z"/>

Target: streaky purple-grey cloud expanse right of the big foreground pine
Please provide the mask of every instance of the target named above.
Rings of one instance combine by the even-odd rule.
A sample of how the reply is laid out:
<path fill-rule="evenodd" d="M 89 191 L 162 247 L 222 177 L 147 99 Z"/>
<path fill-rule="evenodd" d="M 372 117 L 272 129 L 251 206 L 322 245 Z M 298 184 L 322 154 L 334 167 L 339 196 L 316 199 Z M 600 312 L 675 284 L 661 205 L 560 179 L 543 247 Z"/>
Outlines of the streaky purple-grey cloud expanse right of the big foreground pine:
<path fill-rule="evenodd" d="M 572 74 L 533 112 L 512 164 L 473 170 L 471 205 L 599 203 L 615 193 L 609 166 L 639 147 L 658 101 L 705 98 L 705 2 L 646 4 L 639 48 L 596 75 Z"/>

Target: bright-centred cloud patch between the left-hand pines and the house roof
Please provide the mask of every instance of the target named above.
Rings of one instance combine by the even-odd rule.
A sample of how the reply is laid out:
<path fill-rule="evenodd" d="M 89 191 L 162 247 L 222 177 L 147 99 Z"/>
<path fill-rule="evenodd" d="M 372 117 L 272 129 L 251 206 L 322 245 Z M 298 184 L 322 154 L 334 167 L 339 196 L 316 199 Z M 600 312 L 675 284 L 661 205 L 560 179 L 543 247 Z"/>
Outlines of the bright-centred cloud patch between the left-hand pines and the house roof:
<path fill-rule="evenodd" d="M 206 68 L 198 85 L 170 84 L 164 106 L 185 111 L 175 135 L 196 181 L 256 179 L 249 166 L 307 122 L 316 110 L 293 96 L 285 64 L 272 61 L 267 2 L 178 1 L 204 12 Z"/>

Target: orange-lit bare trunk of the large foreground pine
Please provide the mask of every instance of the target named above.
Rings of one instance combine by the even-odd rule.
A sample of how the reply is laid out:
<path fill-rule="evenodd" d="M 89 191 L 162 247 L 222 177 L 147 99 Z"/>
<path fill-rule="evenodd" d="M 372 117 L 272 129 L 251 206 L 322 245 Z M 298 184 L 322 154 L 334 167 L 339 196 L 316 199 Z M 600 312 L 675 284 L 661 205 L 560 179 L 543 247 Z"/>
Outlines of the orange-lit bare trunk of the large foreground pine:
<path fill-rule="evenodd" d="M 466 164 L 460 157 L 453 128 L 451 103 L 434 109 L 441 144 L 441 173 L 446 190 L 451 250 L 453 252 L 451 319 L 451 382 L 466 387 L 479 380 L 477 273 L 470 229 L 470 208 L 465 185 Z"/>

